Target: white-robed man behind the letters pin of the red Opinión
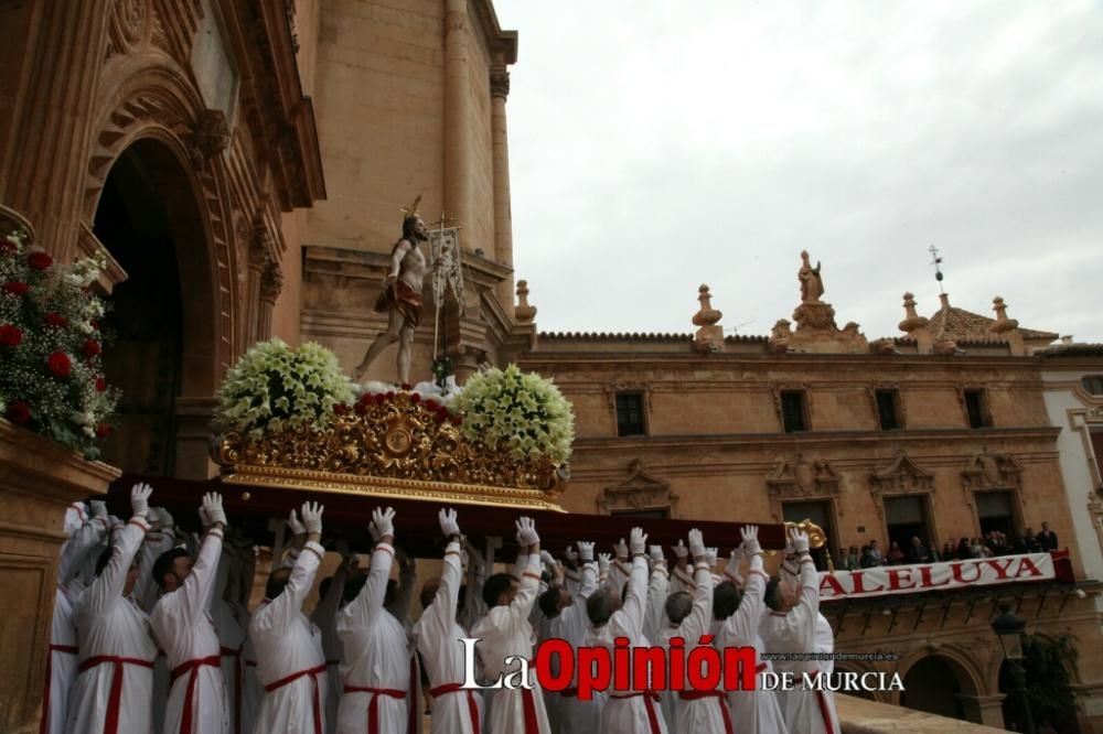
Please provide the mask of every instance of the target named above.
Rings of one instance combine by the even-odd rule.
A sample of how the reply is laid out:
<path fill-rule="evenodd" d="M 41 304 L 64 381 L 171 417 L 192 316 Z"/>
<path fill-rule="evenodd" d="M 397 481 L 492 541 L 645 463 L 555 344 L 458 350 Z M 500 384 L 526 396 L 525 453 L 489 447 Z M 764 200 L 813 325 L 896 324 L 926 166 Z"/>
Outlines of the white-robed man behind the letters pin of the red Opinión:
<path fill-rule="evenodd" d="M 627 637 L 630 647 L 650 647 L 643 635 L 644 605 L 647 594 L 647 561 L 644 557 L 647 537 L 632 528 L 629 544 L 632 552 L 631 575 L 623 603 L 619 592 L 601 589 L 586 601 L 586 611 L 593 625 L 588 643 L 606 647 L 613 656 L 614 640 Z M 615 677 L 615 663 L 613 676 Z M 601 711 L 601 728 L 606 734 L 666 734 L 666 722 L 658 708 L 658 693 L 650 688 L 614 691 L 610 689 Z"/>

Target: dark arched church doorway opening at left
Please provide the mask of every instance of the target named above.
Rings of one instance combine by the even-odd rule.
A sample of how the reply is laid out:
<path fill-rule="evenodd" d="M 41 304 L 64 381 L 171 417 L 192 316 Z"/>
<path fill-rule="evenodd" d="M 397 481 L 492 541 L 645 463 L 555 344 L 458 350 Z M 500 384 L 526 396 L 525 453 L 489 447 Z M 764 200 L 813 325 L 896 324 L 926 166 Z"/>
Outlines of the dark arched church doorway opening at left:
<path fill-rule="evenodd" d="M 185 335 L 185 313 L 210 307 L 203 305 L 204 279 L 193 278 L 185 289 L 181 278 L 182 271 L 202 271 L 206 238 L 188 173 L 164 143 L 139 140 L 119 155 L 93 233 L 127 273 L 108 298 L 103 325 L 115 339 L 105 350 L 107 381 L 122 390 L 104 461 L 124 472 L 173 476 L 185 348 L 192 347 L 192 358 L 206 352 L 202 323 Z"/>

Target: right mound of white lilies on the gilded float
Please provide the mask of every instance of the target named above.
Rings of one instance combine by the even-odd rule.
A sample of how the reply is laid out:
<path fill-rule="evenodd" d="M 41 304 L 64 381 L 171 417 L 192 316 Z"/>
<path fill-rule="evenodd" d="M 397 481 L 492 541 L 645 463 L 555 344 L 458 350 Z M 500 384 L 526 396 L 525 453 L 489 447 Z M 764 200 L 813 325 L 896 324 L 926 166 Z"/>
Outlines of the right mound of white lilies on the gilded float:
<path fill-rule="evenodd" d="M 575 412 L 552 380 L 516 365 L 473 375 L 450 408 L 463 417 L 462 435 L 488 446 L 505 444 L 517 460 L 570 458 Z"/>

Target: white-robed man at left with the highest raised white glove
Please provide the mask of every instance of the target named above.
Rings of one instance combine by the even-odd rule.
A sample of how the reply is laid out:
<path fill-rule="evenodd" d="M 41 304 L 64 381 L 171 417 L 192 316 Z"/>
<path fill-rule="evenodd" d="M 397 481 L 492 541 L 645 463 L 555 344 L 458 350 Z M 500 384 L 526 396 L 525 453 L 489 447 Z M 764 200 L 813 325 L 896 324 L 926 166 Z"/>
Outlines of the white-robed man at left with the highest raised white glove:
<path fill-rule="evenodd" d="M 157 648 L 149 619 L 130 593 L 138 576 L 135 557 L 149 530 L 151 492 L 146 484 L 130 489 L 133 515 L 73 613 L 81 652 L 65 727 L 71 734 L 144 734 L 150 728 Z"/>

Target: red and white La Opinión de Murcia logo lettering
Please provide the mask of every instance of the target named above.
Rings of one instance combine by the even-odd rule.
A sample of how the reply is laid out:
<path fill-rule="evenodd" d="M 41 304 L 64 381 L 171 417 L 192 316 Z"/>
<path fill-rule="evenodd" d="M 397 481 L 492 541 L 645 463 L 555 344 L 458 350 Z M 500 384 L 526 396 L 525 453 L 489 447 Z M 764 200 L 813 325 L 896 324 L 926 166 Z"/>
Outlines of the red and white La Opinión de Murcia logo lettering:
<path fill-rule="evenodd" d="M 503 672 L 496 681 L 480 683 L 475 662 L 479 639 L 460 638 L 463 646 L 464 680 L 470 690 L 532 689 L 533 673 L 545 691 L 577 690 L 579 700 L 589 701 L 595 693 L 607 690 L 625 691 L 751 691 L 751 690 L 823 690 L 823 691 L 902 691 L 898 673 L 821 671 L 767 671 L 753 647 L 713 647 L 713 635 L 704 635 L 688 650 L 681 637 L 672 637 L 670 647 L 632 647 L 627 637 L 607 647 L 575 647 L 565 639 L 544 640 L 529 660 L 508 656 L 505 665 L 520 663 L 517 670 Z M 846 656 L 843 654 L 790 654 L 765 656 L 774 660 L 835 660 L 860 657 L 868 660 L 892 660 L 881 652 Z M 553 665 L 553 661 L 557 665 Z M 761 676 L 761 686 L 758 678 Z"/>

